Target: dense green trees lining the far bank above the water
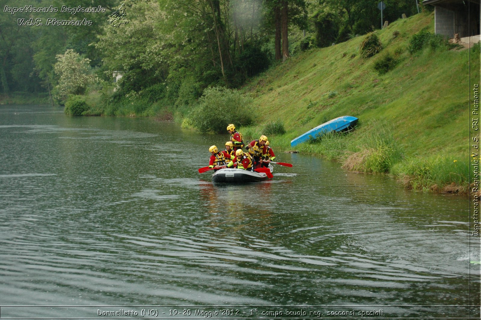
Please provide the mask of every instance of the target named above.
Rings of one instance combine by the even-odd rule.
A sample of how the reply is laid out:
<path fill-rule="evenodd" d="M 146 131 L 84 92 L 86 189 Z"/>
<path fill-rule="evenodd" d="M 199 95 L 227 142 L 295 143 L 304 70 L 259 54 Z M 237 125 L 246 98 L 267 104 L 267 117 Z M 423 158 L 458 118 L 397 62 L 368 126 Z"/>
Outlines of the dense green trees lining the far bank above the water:
<path fill-rule="evenodd" d="M 26 0 L 5 0 L 21 7 Z M 121 8 L 119 6 L 122 5 Z M 103 13 L 0 14 L 0 93 L 49 92 L 102 98 L 103 114 L 191 113 L 211 86 L 239 88 L 277 61 L 380 26 L 373 0 L 114 0 Z M 385 20 L 417 12 L 385 0 Z M 90 0 L 37 0 L 38 8 L 91 8 Z M 116 13 L 115 13 L 116 12 Z M 125 14 L 110 24 L 113 13 Z M 114 15 L 115 15 L 114 14 Z M 43 25 L 19 26 L 34 18 Z M 46 26 L 47 19 L 83 26 Z M 114 75 L 122 79 L 113 86 Z M 97 99 L 96 98 L 96 99 Z M 87 103 L 92 104 L 87 99 Z"/>

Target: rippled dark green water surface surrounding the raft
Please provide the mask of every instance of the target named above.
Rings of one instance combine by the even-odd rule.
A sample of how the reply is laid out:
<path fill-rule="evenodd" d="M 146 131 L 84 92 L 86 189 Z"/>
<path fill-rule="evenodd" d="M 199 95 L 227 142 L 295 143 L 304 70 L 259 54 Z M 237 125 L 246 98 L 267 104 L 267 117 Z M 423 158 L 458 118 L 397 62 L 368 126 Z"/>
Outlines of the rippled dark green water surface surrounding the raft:
<path fill-rule="evenodd" d="M 292 168 L 215 185 L 197 169 L 227 140 L 0 106 L 1 318 L 479 317 L 468 198 L 275 137 Z"/>

